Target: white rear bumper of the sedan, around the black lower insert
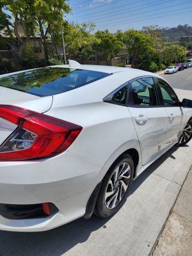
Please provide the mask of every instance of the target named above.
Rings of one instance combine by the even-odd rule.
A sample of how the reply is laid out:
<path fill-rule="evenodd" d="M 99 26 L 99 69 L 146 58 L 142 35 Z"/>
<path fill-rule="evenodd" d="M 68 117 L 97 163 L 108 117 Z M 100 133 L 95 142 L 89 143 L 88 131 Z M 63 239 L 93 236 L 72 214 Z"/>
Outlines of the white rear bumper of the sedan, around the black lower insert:
<path fill-rule="evenodd" d="M 54 214 L 43 218 L 13 220 L 1 214 L 0 229 L 38 232 L 80 218 L 101 179 L 101 168 L 68 152 L 41 161 L 0 162 L 0 204 L 49 202 L 58 208 Z"/>

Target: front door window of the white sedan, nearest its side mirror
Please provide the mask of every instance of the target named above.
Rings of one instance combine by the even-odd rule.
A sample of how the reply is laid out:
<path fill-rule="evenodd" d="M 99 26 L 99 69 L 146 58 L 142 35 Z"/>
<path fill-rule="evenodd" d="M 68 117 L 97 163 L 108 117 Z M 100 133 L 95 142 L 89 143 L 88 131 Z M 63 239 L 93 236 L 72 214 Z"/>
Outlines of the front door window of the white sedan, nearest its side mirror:
<path fill-rule="evenodd" d="M 179 101 L 172 87 L 161 79 L 157 80 L 161 90 L 164 106 L 177 106 Z"/>

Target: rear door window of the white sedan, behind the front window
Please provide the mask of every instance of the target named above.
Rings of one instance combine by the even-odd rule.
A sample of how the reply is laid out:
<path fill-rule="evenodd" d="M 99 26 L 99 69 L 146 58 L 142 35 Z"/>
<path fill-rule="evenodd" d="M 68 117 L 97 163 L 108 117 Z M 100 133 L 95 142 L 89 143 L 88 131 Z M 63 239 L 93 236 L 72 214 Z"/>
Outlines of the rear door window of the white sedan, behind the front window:
<path fill-rule="evenodd" d="M 130 83 L 130 104 L 146 107 L 157 106 L 156 88 L 152 77 L 142 77 Z"/>

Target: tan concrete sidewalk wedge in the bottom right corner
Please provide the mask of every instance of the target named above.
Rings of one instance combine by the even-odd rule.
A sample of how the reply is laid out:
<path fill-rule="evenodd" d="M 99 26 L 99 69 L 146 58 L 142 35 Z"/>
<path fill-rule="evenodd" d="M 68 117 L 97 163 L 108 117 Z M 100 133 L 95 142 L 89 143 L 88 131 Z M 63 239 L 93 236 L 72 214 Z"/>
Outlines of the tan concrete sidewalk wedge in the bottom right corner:
<path fill-rule="evenodd" d="M 189 256 L 192 252 L 192 166 L 151 256 Z"/>

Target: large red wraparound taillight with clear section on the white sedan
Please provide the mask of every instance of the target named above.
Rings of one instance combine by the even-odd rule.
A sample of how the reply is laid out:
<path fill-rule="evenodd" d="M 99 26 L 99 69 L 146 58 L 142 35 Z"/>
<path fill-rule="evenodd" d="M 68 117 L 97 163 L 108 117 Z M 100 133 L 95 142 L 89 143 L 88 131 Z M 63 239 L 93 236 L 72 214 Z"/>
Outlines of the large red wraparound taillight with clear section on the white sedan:
<path fill-rule="evenodd" d="M 65 151 L 82 127 L 52 116 L 0 105 L 0 117 L 19 125 L 0 146 L 0 161 L 52 157 Z"/>

